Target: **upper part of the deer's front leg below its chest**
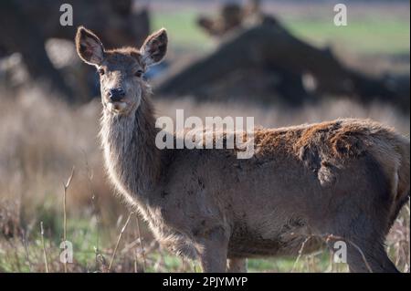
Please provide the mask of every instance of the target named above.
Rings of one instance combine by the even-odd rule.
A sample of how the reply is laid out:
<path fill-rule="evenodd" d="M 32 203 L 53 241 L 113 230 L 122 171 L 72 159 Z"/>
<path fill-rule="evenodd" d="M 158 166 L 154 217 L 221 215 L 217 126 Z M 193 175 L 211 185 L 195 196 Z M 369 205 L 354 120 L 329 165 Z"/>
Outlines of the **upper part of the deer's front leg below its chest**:
<path fill-rule="evenodd" d="M 228 238 L 222 228 L 214 228 L 204 234 L 197 248 L 203 272 L 227 271 L 227 246 Z"/>

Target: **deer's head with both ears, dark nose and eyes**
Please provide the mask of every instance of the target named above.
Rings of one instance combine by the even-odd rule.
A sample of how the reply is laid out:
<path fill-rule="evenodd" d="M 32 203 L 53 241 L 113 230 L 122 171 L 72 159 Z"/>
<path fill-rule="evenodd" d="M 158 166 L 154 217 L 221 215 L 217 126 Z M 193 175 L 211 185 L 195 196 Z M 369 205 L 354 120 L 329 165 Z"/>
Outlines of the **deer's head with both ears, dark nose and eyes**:
<path fill-rule="evenodd" d="M 150 66 L 159 63 L 167 50 L 165 29 L 148 36 L 140 49 L 104 49 L 98 36 L 80 26 L 76 35 L 79 57 L 100 74 L 101 102 L 111 114 L 128 115 L 142 100 L 142 78 Z"/>

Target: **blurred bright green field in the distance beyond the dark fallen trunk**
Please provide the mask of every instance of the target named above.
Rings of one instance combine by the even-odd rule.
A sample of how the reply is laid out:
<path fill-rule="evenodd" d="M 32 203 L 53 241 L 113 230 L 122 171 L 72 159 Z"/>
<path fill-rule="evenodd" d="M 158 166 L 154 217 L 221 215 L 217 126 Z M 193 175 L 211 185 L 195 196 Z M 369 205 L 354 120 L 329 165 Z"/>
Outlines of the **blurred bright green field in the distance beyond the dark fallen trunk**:
<path fill-rule="evenodd" d="M 195 10 L 153 13 L 153 29 L 166 27 L 171 46 L 176 49 L 206 50 L 213 41 L 195 24 Z M 353 53 L 402 54 L 409 53 L 409 21 L 395 16 L 348 18 L 348 26 L 334 26 L 332 18 L 295 19 L 284 17 L 290 31 L 311 43 L 324 46 L 333 44 Z"/>

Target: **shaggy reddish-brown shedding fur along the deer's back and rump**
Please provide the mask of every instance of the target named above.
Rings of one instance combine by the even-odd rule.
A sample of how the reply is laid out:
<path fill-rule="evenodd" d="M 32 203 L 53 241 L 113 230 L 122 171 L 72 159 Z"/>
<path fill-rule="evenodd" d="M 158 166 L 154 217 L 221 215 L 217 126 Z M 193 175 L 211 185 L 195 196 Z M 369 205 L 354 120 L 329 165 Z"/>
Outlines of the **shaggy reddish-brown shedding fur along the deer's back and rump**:
<path fill-rule="evenodd" d="M 278 152 L 297 158 L 308 171 L 317 175 L 324 187 L 338 180 L 338 172 L 344 164 L 366 153 L 374 156 L 392 181 L 402 180 L 393 176 L 399 172 L 401 163 L 409 165 L 409 153 L 404 149 L 409 140 L 372 120 L 343 119 L 276 130 L 258 129 L 255 140 L 261 156 Z M 406 157 L 408 160 L 404 159 Z M 406 172 L 404 167 L 402 169 Z M 403 179 L 401 184 L 407 183 Z"/>

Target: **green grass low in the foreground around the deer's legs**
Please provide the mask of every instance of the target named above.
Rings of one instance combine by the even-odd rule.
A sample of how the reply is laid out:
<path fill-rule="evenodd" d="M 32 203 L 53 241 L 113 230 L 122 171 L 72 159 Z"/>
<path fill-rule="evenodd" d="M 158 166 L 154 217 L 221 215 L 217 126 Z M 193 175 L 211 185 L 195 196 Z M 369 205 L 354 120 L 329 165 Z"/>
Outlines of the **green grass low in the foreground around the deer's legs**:
<path fill-rule="evenodd" d="M 42 217 L 46 218 L 46 217 Z M 58 217 L 55 217 L 56 227 L 51 231 L 48 221 L 44 221 L 45 227 L 45 245 L 47 251 L 47 261 L 50 272 L 62 272 L 63 265 L 59 262 L 61 249 L 62 224 Z M 54 227 L 54 226 L 53 226 Z M 130 243 L 131 237 L 124 238 L 115 256 L 113 269 L 114 272 L 133 272 L 133 251 L 121 254 L 124 243 Z M 109 263 L 114 238 L 109 238 L 104 234 L 97 234 L 95 223 L 90 219 L 68 219 L 68 241 L 73 246 L 74 264 L 68 264 L 69 272 L 101 272 L 100 263 L 96 262 L 95 247 L 100 244 L 100 254 L 105 258 L 106 264 Z M 28 247 L 25 250 L 23 243 L 16 240 L 3 240 L 0 244 L 0 272 L 30 272 L 45 271 L 43 258 L 43 246 L 39 230 L 33 230 L 28 237 Z M 111 244 L 108 244 L 111 242 Z M 146 244 L 147 245 L 147 244 Z M 28 255 L 28 260 L 26 256 Z M 147 269 L 146 272 L 201 272 L 198 262 L 183 261 L 181 257 L 172 255 L 167 251 L 155 248 L 146 253 Z M 139 259 L 142 265 L 142 258 Z M 291 270 L 295 272 L 324 272 L 329 268 L 329 254 L 322 252 L 317 255 L 303 255 L 300 257 L 298 264 L 295 257 L 279 257 L 267 259 L 249 259 L 249 272 L 284 272 Z M 31 267 L 30 267 L 31 265 Z M 107 265 L 106 265 L 107 266 Z"/>

